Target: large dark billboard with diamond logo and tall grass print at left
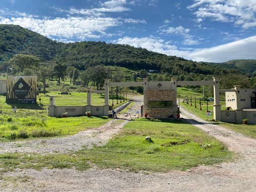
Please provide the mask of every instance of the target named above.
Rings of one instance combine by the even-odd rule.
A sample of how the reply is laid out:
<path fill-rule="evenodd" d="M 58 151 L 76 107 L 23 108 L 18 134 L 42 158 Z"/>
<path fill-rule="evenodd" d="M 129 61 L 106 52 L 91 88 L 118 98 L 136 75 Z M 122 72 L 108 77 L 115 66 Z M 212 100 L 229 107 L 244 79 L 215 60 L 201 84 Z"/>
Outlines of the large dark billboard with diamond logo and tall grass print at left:
<path fill-rule="evenodd" d="M 7 77 L 7 103 L 36 103 L 37 76 Z"/>

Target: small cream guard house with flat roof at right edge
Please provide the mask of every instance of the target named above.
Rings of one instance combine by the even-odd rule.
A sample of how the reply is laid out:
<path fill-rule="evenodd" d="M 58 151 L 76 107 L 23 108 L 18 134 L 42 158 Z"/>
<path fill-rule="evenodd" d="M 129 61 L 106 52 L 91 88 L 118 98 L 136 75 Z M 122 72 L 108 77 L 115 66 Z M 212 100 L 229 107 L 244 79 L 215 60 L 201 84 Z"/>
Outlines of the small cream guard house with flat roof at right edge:
<path fill-rule="evenodd" d="M 240 86 L 234 86 L 234 89 L 225 92 L 226 107 L 230 106 L 232 110 L 256 109 L 255 94 L 255 88 L 241 89 Z"/>

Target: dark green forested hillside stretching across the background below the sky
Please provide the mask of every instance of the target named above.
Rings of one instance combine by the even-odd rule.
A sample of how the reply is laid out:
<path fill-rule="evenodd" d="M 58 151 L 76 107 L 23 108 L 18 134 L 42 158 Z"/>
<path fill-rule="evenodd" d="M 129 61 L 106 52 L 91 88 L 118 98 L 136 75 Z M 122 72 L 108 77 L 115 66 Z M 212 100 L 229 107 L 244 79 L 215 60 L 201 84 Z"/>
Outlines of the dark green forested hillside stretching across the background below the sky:
<path fill-rule="evenodd" d="M 17 54 L 36 56 L 40 59 L 41 66 L 50 63 L 51 66 L 72 67 L 69 69 L 80 72 L 98 65 L 124 67 L 137 72 L 142 69 L 158 70 L 158 75 L 155 74 L 151 80 L 170 80 L 174 76 L 178 77 L 178 80 L 208 80 L 213 76 L 224 79 L 236 76 L 238 80 L 246 78 L 246 84 L 243 86 L 247 87 L 253 86 L 255 79 L 249 79 L 249 76 L 253 77 L 256 70 L 255 60 L 242 60 L 243 65 L 240 60 L 227 63 L 195 62 L 129 45 L 106 44 L 101 41 L 65 44 L 19 26 L 0 25 L 0 70 L 6 71 L 10 68 L 13 63 L 10 59 Z M 15 73 L 23 71 L 16 70 Z M 26 71 L 26 74 L 29 73 L 32 72 Z"/>

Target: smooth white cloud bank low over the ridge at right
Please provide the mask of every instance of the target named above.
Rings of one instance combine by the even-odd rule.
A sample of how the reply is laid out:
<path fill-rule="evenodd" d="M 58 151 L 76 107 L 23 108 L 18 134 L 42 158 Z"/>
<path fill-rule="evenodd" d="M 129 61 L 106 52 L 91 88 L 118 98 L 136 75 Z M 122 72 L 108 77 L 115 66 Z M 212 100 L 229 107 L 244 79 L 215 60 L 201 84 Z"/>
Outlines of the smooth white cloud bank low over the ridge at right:
<path fill-rule="evenodd" d="M 176 55 L 185 59 L 205 62 L 226 62 L 232 59 L 255 59 L 256 55 L 256 36 L 217 47 L 197 50 L 193 48 L 181 48 L 178 50 L 176 46 L 170 45 L 172 43 L 171 41 L 164 42 L 163 39 L 156 37 L 132 38 L 126 36 L 114 40 L 113 43 L 127 44 L 166 55 Z"/>

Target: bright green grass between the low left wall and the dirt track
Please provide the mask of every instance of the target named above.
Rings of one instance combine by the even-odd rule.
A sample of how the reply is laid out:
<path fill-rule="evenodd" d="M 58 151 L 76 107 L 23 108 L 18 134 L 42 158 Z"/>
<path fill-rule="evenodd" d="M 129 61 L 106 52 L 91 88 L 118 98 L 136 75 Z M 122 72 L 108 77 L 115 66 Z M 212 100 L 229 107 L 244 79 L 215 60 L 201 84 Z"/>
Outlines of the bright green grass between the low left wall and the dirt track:
<path fill-rule="evenodd" d="M 18 114 L 0 116 L 0 141 L 55 137 L 76 134 L 92 127 L 105 124 L 110 119 L 105 116 L 48 117 L 41 115 L 26 117 Z"/>

